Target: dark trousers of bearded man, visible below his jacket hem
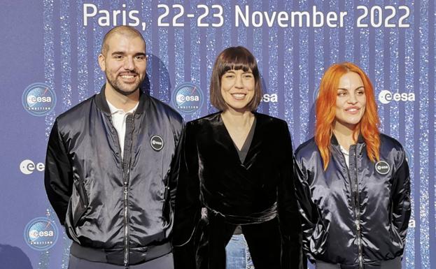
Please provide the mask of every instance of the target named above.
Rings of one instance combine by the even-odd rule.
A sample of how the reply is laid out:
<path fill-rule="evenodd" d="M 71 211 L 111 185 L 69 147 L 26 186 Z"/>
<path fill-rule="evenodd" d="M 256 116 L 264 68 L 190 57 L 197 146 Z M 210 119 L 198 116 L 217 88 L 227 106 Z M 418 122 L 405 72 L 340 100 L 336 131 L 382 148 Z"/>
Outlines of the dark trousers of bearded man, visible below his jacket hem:
<path fill-rule="evenodd" d="M 169 253 L 162 257 L 141 263 L 136 266 L 129 266 L 129 269 L 173 269 L 173 254 Z M 79 259 L 70 255 L 68 269 L 125 269 L 124 266 L 117 266 L 111 263 L 97 263 Z"/>

